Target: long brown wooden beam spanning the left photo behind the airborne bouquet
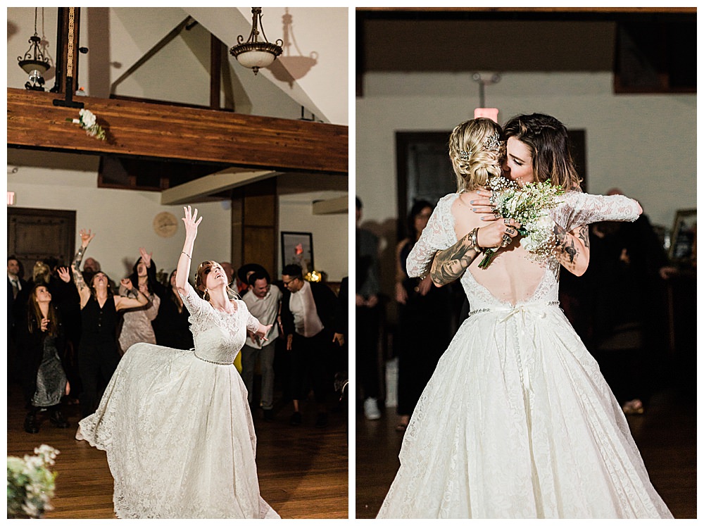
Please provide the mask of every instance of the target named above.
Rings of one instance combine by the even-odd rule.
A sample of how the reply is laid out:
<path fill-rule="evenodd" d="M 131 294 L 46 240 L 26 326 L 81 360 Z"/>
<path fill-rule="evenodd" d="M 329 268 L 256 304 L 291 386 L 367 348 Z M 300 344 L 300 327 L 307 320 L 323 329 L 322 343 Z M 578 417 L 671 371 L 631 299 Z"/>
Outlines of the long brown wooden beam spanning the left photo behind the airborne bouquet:
<path fill-rule="evenodd" d="M 258 170 L 348 173 L 348 127 L 307 120 L 82 96 L 108 132 L 88 137 L 52 93 L 7 89 L 8 146 L 226 163 Z"/>

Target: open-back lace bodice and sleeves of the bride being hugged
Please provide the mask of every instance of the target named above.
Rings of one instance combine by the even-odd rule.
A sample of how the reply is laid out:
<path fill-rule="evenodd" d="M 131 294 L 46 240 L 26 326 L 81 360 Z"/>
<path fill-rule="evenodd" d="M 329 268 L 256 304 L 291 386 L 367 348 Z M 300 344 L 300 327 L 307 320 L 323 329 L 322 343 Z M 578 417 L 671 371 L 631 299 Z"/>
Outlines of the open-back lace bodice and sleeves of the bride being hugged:
<path fill-rule="evenodd" d="M 459 194 L 440 199 L 427 227 L 408 256 L 408 275 L 420 277 L 429 271 L 435 253 L 448 249 L 458 241 L 455 217 L 451 207 Z M 639 206 L 626 196 L 599 196 L 567 192 L 562 202 L 550 211 L 556 224 L 574 228 L 599 221 L 634 221 Z M 462 235 L 466 234 L 464 232 Z M 479 269 L 480 256 L 460 278 L 472 311 L 482 308 L 513 307 L 519 303 L 551 302 L 558 299 L 560 265 L 554 258 L 546 263 L 531 261 L 518 243 L 498 251 L 488 268 Z"/>

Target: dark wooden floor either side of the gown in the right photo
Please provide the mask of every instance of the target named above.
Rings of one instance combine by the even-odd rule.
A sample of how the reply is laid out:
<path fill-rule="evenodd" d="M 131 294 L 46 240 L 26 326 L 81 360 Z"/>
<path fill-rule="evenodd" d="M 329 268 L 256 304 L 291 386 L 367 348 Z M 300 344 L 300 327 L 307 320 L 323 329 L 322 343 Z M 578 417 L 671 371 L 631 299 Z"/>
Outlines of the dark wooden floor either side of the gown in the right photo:
<path fill-rule="evenodd" d="M 398 470 L 403 434 L 395 408 L 380 420 L 356 413 L 356 517 L 375 518 Z M 674 518 L 697 517 L 696 400 L 670 389 L 650 401 L 643 415 L 628 417 L 648 475 Z"/>

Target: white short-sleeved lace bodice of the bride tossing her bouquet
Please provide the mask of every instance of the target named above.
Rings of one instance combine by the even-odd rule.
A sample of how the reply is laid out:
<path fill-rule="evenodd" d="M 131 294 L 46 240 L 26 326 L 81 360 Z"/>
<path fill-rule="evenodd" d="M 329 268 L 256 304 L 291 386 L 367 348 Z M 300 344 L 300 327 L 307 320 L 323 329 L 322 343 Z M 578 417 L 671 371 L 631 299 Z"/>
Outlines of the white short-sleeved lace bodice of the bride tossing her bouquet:
<path fill-rule="evenodd" d="M 181 298 L 191 313 L 189 322 L 196 356 L 203 360 L 231 364 L 244 346 L 247 330 L 255 332 L 259 327 L 259 320 L 239 299 L 232 300 L 234 313 L 225 313 L 201 299 L 190 284 L 188 293 Z"/>

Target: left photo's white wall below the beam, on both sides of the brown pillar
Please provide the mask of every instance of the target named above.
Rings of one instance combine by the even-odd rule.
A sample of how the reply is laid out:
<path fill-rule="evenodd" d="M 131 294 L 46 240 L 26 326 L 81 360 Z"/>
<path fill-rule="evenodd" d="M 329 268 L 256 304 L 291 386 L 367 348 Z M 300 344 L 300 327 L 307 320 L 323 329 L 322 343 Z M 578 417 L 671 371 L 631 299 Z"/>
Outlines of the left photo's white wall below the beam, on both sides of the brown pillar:
<path fill-rule="evenodd" d="M 153 252 L 157 270 L 170 273 L 176 267 L 184 239 L 182 206 L 162 206 L 159 192 L 101 189 L 94 172 L 48 170 L 20 166 L 16 173 L 8 166 L 8 191 L 15 192 L 15 208 L 75 210 L 77 232 L 96 233 L 86 257 L 101 263 L 102 269 L 118 281 L 132 271 L 139 247 Z M 313 215 L 315 199 L 337 197 L 344 192 L 308 192 L 282 196 L 279 201 L 279 230 L 311 232 L 316 270 L 328 280 L 340 281 L 348 274 L 348 214 Z M 231 261 L 230 201 L 193 203 L 203 215 L 193 252 L 194 266 L 206 259 Z M 168 238 L 156 234 L 153 220 L 168 211 L 179 220 L 178 231 Z M 76 232 L 76 248 L 80 237 Z M 277 250 L 277 271 L 281 268 Z M 70 263 L 70 262 L 66 262 Z"/>

